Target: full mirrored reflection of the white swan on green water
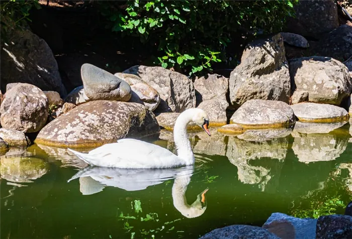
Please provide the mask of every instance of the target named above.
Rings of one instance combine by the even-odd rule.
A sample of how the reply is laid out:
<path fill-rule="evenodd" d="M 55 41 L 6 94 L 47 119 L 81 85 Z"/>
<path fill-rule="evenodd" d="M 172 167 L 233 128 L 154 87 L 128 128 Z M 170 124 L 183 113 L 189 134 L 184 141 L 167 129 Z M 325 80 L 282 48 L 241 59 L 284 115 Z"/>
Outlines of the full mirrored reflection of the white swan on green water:
<path fill-rule="evenodd" d="M 206 192 L 201 192 L 191 205 L 187 203 L 186 191 L 194 173 L 194 166 L 175 169 L 118 169 L 89 167 L 78 171 L 68 182 L 79 178 L 80 192 L 91 195 L 107 186 L 126 191 L 144 190 L 149 186 L 174 179 L 172 186 L 173 206 L 188 218 L 201 216 L 207 209 Z"/>

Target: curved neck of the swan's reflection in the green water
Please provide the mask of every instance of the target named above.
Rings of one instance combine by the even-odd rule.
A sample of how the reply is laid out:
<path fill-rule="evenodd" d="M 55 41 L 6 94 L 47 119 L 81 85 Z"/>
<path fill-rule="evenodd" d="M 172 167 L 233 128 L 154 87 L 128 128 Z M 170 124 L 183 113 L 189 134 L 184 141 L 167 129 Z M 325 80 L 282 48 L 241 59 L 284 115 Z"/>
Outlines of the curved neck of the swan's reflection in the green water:
<path fill-rule="evenodd" d="M 190 176 L 182 176 L 175 179 L 172 186 L 173 206 L 182 214 L 187 213 L 190 205 L 187 203 L 186 191 L 191 181 Z"/>

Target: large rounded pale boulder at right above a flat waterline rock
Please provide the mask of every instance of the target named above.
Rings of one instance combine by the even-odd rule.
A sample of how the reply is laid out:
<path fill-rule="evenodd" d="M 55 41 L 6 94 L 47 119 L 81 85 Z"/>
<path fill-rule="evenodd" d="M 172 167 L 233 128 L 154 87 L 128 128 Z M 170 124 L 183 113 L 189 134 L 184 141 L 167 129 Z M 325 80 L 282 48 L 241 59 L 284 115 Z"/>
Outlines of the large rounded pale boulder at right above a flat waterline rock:
<path fill-rule="evenodd" d="M 340 105 L 352 90 L 347 67 L 330 57 L 301 57 L 290 61 L 293 104 L 303 101 Z M 298 97 L 297 95 L 304 95 Z"/>

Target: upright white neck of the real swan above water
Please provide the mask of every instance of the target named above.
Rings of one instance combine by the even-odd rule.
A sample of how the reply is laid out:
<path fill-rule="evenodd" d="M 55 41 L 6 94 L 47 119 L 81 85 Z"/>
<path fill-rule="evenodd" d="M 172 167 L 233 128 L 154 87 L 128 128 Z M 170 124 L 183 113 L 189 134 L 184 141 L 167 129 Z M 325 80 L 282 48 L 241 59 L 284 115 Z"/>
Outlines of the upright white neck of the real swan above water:
<path fill-rule="evenodd" d="M 187 135 L 187 125 L 192 121 L 193 113 L 186 110 L 177 118 L 173 127 L 173 139 L 177 148 L 177 155 L 186 165 L 194 164 L 194 154 Z"/>

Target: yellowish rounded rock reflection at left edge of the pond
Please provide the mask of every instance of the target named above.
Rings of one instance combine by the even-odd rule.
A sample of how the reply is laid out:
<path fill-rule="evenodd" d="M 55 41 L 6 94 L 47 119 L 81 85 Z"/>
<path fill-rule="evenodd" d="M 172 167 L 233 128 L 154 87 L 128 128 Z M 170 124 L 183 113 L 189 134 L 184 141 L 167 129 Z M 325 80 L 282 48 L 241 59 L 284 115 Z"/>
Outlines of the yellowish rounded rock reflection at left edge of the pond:
<path fill-rule="evenodd" d="M 2 157 L 0 173 L 14 183 L 31 183 L 48 172 L 47 163 L 35 157 Z"/>

